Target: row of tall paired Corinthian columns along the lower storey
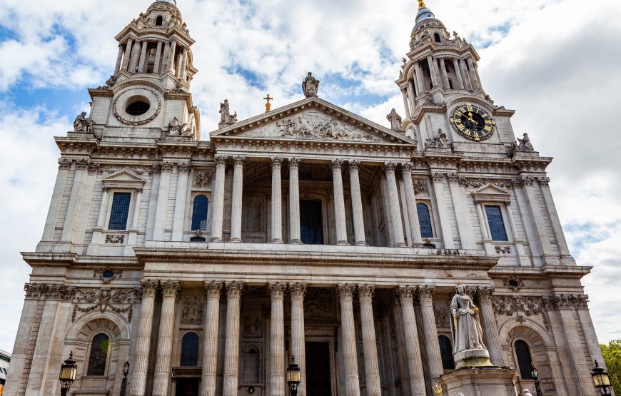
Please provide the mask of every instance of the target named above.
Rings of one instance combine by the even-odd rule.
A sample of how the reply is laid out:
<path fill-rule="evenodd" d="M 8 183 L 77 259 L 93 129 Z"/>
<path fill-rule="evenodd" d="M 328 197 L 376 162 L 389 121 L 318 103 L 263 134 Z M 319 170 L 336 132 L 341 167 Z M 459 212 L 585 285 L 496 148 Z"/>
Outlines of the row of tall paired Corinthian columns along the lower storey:
<path fill-rule="evenodd" d="M 176 280 L 143 280 L 143 301 L 141 318 L 136 339 L 136 355 L 133 362 L 133 375 L 129 395 L 143 396 L 146 391 L 147 369 L 149 365 L 149 345 L 151 345 L 151 325 L 157 288 L 161 288 L 163 301 L 159 323 L 157 354 L 153 375 L 154 396 L 164 396 L 168 392 L 171 380 L 172 332 L 175 326 L 175 298 L 180 288 Z M 375 318 L 373 317 L 373 294 L 375 285 L 337 284 L 336 291 L 340 300 L 340 329 L 343 342 L 343 375 L 345 394 L 360 395 L 360 378 L 358 375 L 358 350 L 355 330 L 353 299 L 358 292 L 360 306 L 360 331 L 363 340 L 363 359 L 365 367 L 366 395 L 380 396 L 380 370 L 378 364 L 377 339 L 375 336 Z M 203 359 L 201 395 L 216 395 L 218 328 L 221 290 L 226 291 L 226 323 L 223 368 L 223 395 L 236 395 L 239 381 L 239 342 L 240 342 L 240 302 L 244 284 L 238 281 L 205 281 L 206 320 L 203 329 Z M 285 323 L 283 302 L 286 291 L 291 295 L 291 353 L 302 367 L 302 382 L 298 395 L 306 396 L 306 357 L 304 333 L 303 301 L 306 283 L 286 283 L 273 281 L 268 283 L 271 295 L 270 322 L 270 359 L 266 378 L 270 378 L 271 388 L 268 395 L 285 396 Z M 443 375 L 442 358 L 438 343 L 438 331 L 433 312 L 433 295 L 435 287 L 430 285 L 398 285 L 394 288 L 395 322 L 398 328 L 398 345 L 405 349 L 405 364 L 402 364 L 402 378 L 408 380 L 410 395 L 425 396 L 426 385 L 423 374 L 423 359 L 420 345 L 424 345 L 427 359 L 425 364 L 430 378 Z M 419 340 L 414 298 L 420 301 L 420 323 L 423 325 L 423 340 Z M 503 365 L 498 339 L 498 328 L 489 296 L 491 290 L 484 290 L 480 299 L 481 316 L 488 343 L 490 356 L 495 365 Z M 421 342 L 422 341 L 422 342 Z M 396 367 L 395 367 L 396 369 Z"/>

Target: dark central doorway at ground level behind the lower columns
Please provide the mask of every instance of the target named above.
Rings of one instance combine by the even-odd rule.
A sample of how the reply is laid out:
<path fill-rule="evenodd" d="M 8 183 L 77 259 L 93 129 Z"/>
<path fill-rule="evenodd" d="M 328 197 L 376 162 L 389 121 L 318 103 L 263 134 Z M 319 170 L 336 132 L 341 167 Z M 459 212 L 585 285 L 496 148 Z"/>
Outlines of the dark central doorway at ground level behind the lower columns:
<path fill-rule="evenodd" d="M 306 342 L 306 394 L 332 395 L 330 342 Z"/>

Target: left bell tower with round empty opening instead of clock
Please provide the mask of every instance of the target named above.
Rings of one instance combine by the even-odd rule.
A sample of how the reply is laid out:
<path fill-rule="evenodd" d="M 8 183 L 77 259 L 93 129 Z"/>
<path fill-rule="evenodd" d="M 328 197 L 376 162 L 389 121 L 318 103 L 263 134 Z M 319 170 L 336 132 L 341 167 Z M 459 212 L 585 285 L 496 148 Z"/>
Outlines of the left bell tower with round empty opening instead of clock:
<path fill-rule="evenodd" d="M 89 89 L 97 138 L 200 139 L 190 86 L 194 40 L 175 0 L 155 1 L 116 35 L 118 56 L 106 86 Z"/>

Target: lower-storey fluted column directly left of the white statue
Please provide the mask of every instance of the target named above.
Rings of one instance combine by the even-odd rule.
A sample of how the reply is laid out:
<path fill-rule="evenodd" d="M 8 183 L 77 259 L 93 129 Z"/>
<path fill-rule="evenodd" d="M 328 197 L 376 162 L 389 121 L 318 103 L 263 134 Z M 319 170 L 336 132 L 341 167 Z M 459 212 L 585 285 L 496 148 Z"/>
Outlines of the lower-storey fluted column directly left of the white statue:
<path fill-rule="evenodd" d="M 433 293 L 435 288 L 423 286 L 418 288 L 418 300 L 420 301 L 420 315 L 423 322 L 423 334 L 425 335 L 425 352 L 427 352 L 427 371 L 429 377 L 440 377 L 444 374 L 442 367 L 442 355 L 438 342 L 438 329 L 435 327 L 435 314 L 433 313 Z"/>

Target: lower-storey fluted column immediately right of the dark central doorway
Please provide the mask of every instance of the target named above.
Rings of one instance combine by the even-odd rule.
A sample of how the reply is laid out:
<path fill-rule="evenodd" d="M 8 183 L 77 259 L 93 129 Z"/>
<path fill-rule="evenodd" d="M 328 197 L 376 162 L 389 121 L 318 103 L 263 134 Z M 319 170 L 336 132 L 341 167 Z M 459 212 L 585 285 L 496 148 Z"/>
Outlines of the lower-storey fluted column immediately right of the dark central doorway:
<path fill-rule="evenodd" d="M 340 328 L 343 337 L 343 365 L 345 366 L 345 395 L 360 396 L 358 380 L 358 352 L 353 321 L 353 290 L 355 285 L 338 285 L 340 298 Z"/>

